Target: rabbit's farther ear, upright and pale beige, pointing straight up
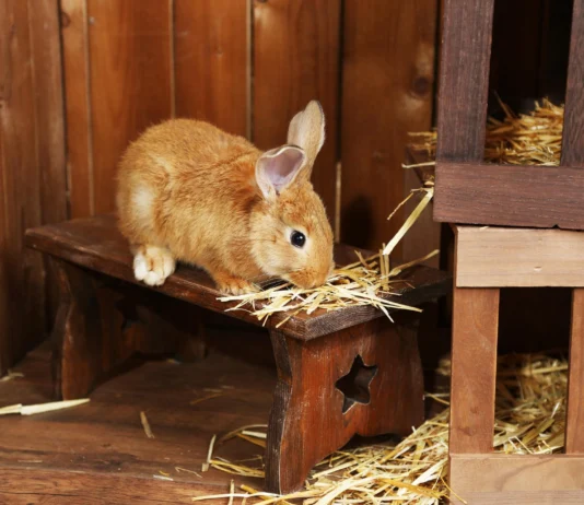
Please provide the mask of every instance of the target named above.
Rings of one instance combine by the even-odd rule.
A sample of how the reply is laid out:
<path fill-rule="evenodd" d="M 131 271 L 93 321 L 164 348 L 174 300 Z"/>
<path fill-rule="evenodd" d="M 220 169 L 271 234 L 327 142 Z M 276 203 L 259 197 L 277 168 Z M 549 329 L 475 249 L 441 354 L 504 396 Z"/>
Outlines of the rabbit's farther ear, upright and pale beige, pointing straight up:
<path fill-rule="evenodd" d="M 306 153 L 311 177 L 316 155 L 325 142 L 325 113 L 319 102 L 313 99 L 304 110 L 296 114 L 288 127 L 288 143 L 302 148 Z M 304 174 L 303 174 L 304 175 Z"/>

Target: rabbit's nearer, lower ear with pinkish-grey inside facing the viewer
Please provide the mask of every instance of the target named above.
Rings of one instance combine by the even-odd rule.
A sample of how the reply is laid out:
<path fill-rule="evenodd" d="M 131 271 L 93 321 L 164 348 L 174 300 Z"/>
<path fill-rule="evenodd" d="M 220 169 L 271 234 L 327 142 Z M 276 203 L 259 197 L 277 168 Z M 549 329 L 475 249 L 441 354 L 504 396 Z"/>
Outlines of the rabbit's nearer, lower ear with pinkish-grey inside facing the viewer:
<path fill-rule="evenodd" d="M 256 163 L 256 180 L 265 198 L 276 197 L 306 169 L 306 154 L 295 145 L 266 151 Z"/>

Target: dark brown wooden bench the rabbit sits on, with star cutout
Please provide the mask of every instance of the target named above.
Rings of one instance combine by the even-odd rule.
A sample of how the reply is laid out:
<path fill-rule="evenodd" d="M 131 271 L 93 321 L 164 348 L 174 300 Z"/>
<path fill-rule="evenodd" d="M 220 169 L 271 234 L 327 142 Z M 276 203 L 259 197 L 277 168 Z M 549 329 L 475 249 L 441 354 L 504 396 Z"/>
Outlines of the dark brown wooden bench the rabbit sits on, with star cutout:
<path fill-rule="evenodd" d="M 137 351 L 192 342 L 197 307 L 219 313 L 230 307 L 196 268 L 180 266 L 160 287 L 136 281 L 113 216 L 28 230 L 26 243 L 49 255 L 60 283 L 54 376 L 56 396 L 63 399 L 84 397 Z M 338 246 L 336 260 L 352 262 L 353 249 Z M 451 289 L 447 274 L 425 267 L 401 279 L 404 304 L 418 306 Z M 227 314 L 259 325 L 247 312 Z M 266 488 L 280 493 L 302 486 L 311 468 L 354 434 L 406 435 L 423 418 L 418 314 L 394 313 L 393 324 L 373 307 L 347 307 L 299 314 L 277 328 L 284 317 L 266 324 L 278 368 Z"/>

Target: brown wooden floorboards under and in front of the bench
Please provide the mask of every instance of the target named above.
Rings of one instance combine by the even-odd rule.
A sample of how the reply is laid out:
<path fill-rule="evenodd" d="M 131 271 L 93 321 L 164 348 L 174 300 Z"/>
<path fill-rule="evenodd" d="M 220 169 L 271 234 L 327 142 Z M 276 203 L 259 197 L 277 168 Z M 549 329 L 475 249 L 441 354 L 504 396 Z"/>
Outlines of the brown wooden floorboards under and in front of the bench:
<path fill-rule="evenodd" d="M 232 354 L 243 355 L 243 348 Z M 0 407 L 51 400 L 48 350 L 32 352 L 14 371 L 24 377 L 0 381 Z M 232 475 L 210 470 L 198 478 L 176 467 L 201 473 L 213 434 L 267 423 L 275 380 L 269 363 L 211 352 L 199 363 L 142 363 L 97 387 L 87 404 L 1 416 L 0 504 L 191 503 L 192 496 L 227 492 Z M 220 396 L 190 404 L 214 392 Z M 144 434 L 141 411 L 153 439 Z M 261 451 L 232 439 L 215 455 L 233 461 Z M 162 472 L 173 481 L 153 477 Z M 234 479 L 236 486 L 262 486 L 260 479 Z"/>

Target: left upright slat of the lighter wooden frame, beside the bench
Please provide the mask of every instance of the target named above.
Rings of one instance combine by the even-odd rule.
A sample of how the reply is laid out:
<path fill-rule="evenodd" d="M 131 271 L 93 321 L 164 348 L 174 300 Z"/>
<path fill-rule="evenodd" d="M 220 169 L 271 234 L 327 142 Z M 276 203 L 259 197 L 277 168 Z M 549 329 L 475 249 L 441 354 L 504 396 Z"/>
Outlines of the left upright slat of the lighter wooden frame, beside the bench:
<path fill-rule="evenodd" d="M 493 449 L 498 329 L 499 290 L 454 289 L 451 455 Z"/>

